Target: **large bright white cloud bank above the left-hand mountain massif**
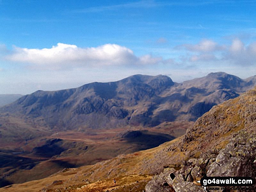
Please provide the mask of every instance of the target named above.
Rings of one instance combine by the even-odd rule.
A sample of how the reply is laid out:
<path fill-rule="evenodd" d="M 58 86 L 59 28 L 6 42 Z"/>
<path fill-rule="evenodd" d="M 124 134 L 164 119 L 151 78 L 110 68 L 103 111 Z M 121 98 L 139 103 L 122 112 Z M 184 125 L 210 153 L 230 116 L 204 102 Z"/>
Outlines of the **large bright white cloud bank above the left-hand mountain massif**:
<path fill-rule="evenodd" d="M 137 57 L 129 48 L 116 44 L 80 48 L 76 45 L 61 44 L 44 49 L 14 47 L 5 57 L 9 61 L 31 64 L 34 68 L 62 69 L 68 67 L 104 65 L 145 65 L 162 62 L 162 57 L 144 55 Z"/>

